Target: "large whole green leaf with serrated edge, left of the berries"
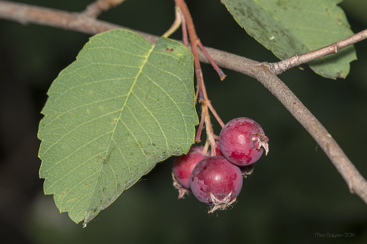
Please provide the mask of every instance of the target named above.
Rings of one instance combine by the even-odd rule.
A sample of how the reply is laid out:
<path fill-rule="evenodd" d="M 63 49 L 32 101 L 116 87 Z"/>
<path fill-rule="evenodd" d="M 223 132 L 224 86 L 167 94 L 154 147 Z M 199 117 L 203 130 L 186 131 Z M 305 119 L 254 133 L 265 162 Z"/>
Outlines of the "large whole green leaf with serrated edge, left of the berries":
<path fill-rule="evenodd" d="M 76 223 L 194 141 L 193 56 L 168 38 L 152 46 L 127 30 L 97 34 L 47 94 L 40 178 Z"/>

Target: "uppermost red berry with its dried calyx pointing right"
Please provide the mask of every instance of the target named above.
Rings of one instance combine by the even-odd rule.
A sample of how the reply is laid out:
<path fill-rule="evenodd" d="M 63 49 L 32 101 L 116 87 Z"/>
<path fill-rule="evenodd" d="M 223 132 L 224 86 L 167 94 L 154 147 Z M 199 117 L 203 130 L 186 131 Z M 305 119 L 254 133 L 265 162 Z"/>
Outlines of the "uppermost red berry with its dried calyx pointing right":
<path fill-rule="evenodd" d="M 268 154 L 268 137 L 261 126 L 249 118 L 232 119 L 219 134 L 223 156 L 231 163 L 246 166 L 255 163 L 265 149 Z"/>

